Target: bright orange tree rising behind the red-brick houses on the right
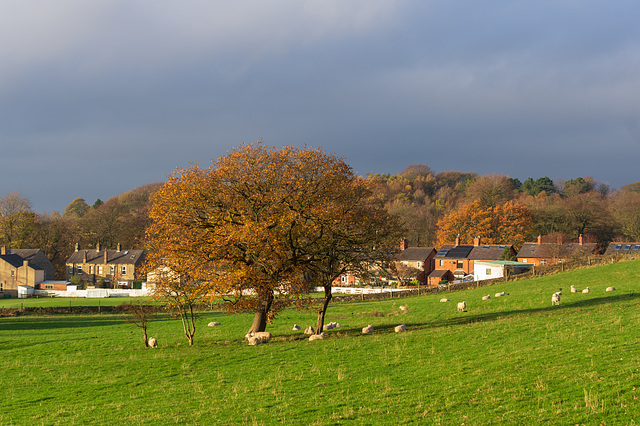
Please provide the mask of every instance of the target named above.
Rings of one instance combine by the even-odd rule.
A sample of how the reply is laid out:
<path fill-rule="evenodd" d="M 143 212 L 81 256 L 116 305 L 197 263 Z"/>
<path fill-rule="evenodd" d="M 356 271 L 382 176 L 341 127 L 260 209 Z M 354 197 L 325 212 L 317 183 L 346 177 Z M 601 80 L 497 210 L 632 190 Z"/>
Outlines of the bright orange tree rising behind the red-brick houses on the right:
<path fill-rule="evenodd" d="M 521 246 L 531 239 L 533 216 L 522 204 L 508 201 L 487 207 L 480 200 L 463 206 L 438 221 L 438 244 L 451 243 L 460 235 L 461 241 L 473 241 L 477 236 L 487 244 Z"/>

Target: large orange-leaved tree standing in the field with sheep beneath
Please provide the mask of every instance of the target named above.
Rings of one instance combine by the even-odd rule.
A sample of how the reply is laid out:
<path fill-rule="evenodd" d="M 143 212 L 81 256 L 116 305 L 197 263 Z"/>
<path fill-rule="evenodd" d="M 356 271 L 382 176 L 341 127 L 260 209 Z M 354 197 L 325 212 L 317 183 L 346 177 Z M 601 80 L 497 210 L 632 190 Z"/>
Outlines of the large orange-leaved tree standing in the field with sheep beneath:
<path fill-rule="evenodd" d="M 177 170 L 155 194 L 148 268 L 255 311 L 249 333 L 264 331 L 278 309 L 306 300 L 343 233 L 372 231 L 354 225 L 370 219 L 364 195 L 351 168 L 320 149 L 244 145 L 208 169 Z"/>

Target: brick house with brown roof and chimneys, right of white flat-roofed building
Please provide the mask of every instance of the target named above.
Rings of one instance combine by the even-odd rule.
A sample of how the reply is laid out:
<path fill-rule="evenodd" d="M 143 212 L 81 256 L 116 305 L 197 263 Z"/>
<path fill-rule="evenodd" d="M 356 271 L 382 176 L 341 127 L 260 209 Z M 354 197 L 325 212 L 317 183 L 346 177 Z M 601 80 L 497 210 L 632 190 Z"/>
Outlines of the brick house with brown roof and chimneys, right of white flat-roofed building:
<path fill-rule="evenodd" d="M 596 255 L 598 245 L 596 243 L 585 243 L 582 235 L 578 237 L 578 243 L 562 242 L 562 237 L 558 237 L 556 242 L 543 242 L 542 236 L 538 235 L 536 243 L 524 243 L 516 256 L 518 262 L 531 263 L 535 266 L 555 265 L 564 263 L 571 258 Z"/>

